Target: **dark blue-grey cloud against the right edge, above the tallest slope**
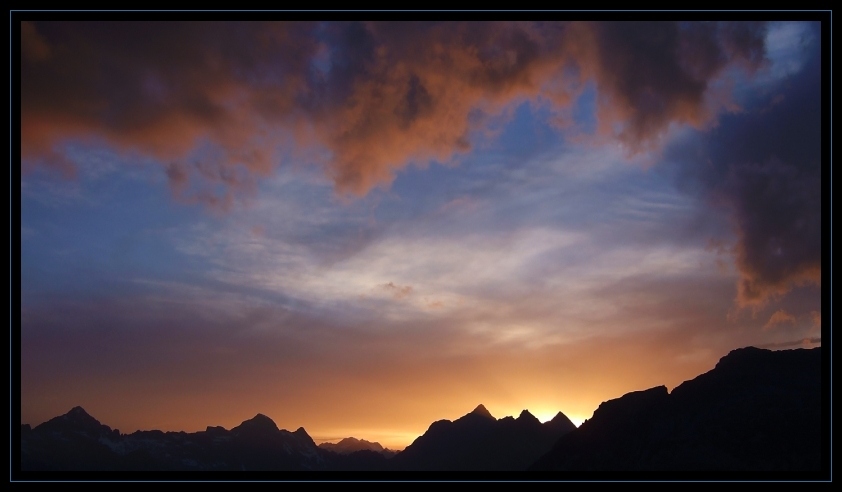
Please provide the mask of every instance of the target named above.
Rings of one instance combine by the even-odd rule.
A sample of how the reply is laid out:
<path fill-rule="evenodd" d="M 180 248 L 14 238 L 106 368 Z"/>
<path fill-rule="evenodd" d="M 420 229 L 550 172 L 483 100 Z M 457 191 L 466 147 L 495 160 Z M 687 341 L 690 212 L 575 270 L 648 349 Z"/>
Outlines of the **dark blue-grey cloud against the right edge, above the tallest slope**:
<path fill-rule="evenodd" d="M 730 212 L 744 306 L 821 282 L 821 60 L 811 53 L 756 109 L 667 152 L 683 185 Z"/>

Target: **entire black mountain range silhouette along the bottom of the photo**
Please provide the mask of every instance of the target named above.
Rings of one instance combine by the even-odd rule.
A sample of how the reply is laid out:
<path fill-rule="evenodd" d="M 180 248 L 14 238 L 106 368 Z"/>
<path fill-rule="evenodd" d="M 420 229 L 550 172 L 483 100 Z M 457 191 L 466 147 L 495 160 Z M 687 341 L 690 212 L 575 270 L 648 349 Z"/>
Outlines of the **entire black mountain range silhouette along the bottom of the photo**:
<path fill-rule="evenodd" d="M 19 470 L 818 471 L 829 469 L 821 348 L 732 351 L 677 386 L 602 403 L 576 428 L 559 412 L 433 422 L 401 452 L 347 438 L 319 446 L 257 414 L 226 430 L 121 434 L 81 407 L 20 427 Z M 14 448 L 13 448 L 14 449 Z"/>

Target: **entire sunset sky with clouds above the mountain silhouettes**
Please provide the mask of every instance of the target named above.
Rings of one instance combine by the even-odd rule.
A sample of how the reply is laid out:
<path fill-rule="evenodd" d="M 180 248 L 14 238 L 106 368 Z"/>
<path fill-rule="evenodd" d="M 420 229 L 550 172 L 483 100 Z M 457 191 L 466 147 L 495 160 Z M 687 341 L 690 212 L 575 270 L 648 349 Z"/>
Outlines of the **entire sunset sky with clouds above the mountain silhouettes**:
<path fill-rule="evenodd" d="M 21 423 L 400 449 L 821 345 L 823 27 L 20 21 Z"/>

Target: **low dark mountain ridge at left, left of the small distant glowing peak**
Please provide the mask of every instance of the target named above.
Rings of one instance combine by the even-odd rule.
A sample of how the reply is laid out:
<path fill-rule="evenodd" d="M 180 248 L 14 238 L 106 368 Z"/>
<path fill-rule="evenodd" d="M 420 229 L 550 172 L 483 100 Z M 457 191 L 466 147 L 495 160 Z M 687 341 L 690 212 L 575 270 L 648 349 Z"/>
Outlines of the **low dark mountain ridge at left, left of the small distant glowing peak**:
<path fill-rule="evenodd" d="M 22 470 L 327 470 L 347 468 L 346 461 L 319 449 L 303 428 L 278 429 L 261 414 L 230 431 L 126 435 L 76 407 L 34 429 L 21 427 Z"/>

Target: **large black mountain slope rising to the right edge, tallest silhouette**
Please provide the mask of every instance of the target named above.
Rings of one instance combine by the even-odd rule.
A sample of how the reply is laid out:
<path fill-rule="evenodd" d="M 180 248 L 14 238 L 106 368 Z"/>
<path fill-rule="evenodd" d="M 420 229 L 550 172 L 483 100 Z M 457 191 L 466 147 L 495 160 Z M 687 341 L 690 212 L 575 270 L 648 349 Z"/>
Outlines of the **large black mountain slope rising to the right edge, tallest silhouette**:
<path fill-rule="evenodd" d="M 716 367 L 604 402 L 531 470 L 818 471 L 821 348 L 734 350 Z"/>

